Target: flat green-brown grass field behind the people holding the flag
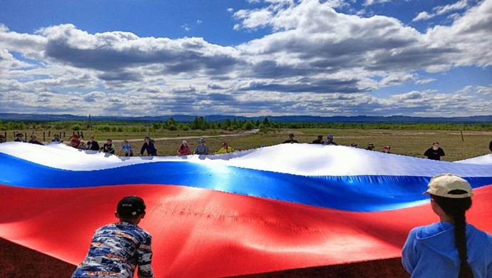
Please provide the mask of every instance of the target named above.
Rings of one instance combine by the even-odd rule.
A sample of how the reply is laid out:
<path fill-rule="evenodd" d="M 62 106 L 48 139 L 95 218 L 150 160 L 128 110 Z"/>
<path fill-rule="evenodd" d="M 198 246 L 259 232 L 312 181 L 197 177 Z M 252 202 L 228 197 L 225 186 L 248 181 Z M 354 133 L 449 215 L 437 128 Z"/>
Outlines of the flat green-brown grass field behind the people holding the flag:
<path fill-rule="evenodd" d="M 14 140 L 14 132 L 7 133 L 8 140 Z M 29 140 L 31 130 L 23 130 Z M 47 137 L 46 141 L 52 137 Z M 339 145 L 350 145 L 357 143 L 358 148 L 366 148 L 367 144 L 374 143 L 374 150 L 381 151 L 384 145 L 391 145 L 391 153 L 398 155 L 408 155 L 416 158 L 423 158 L 423 153 L 430 148 L 432 143 L 438 141 L 441 148 L 444 149 L 446 161 L 463 160 L 474 158 L 480 155 L 490 153 L 488 143 L 492 140 L 492 130 L 490 131 L 463 131 L 458 130 L 366 130 L 366 129 L 294 129 L 280 130 L 275 133 L 234 133 L 225 130 L 188 130 L 188 131 L 169 131 L 164 130 L 160 133 L 111 133 L 101 131 L 82 131 L 85 139 L 93 135 L 98 140 L 99 145 L 106 143 L 107 138 L 113 139 L 116 145 L 116 154 L 121 150 L 122 141 L 127 139 L 130 145 L 136 150 L 135 154 L 139 155 L 140 148 L 143 144 L 143 138 L 150 135 L 155 139 L 155 147 L 158 149 L 158 155 L 176 155 L 176 150 L 183 139 L 188 140 L 190 149 L 195 150 L 198 145 L 198 138 L 205 138 L 210 152 L 216 152 L 220 149 L 220 144 L 224 141 L 229 143 L 230 147 L 236 150 L 247 150 L 259 148 L 261 145 L 277 145 L 288 139 L 289 133 L 294 133 L 295 139 L 299 143 L 311 143 L 317 135 L 323 135 L 324 140 L 328 134 L 334 135 L 334 140 Z M 43 132 L 35 133 L 40 140 L 43 140 Z M 53 132 L 51 133 L 53 135 Z M 71 133 L 66 133 L 65 140 L 68 141 Z"/>

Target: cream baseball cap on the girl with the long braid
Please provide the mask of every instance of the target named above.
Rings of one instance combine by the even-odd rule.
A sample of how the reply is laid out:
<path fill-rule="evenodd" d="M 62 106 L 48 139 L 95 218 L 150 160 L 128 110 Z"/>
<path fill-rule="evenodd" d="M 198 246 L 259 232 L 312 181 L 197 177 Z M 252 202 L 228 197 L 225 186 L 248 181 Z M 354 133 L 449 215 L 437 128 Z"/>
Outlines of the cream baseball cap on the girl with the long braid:
<path fill-rule="evenodd" d="M 473 190 L 469 182 L 463 177 L 459 177 L 453 174 L 441 174 L 431 178 L 429 189 L 424 194 L 432 194 L 441 197 L 448 198 L 466 198 L 473 196 Z M 463 194 L 450 194 L 453 190 L 463 190 L 466 193 Z"/>

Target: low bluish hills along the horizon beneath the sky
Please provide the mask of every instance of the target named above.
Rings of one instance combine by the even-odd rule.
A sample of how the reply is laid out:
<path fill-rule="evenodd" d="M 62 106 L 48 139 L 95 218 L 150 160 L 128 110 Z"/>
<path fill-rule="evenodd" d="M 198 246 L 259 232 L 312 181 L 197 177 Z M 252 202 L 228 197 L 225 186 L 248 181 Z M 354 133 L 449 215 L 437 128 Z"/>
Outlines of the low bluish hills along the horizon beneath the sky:
<path fill-rule="evenodd" d="M 134 120 L 148 122 L 162 122 L 168 118 L 174 118 L 181 123 L 190 123 L 195 119 L 195 115 L 160 115 L 146 117 L 111 117 L 111 116 L 91 116 L 91 120 Z M 394 116 L 335 116 L 319 117 L 309 115 L 299 116 L 260 116 L 260 117 L 243 117 L 235 115 L 206 115 L 203 116 L 208 122 L 223 122 L 227 119 L 236 120 L 268 120 L 280 123 L 492 123 L 492 115 L 470 116 L 470 117 L 409 117 L 402 115 Z M 0 113 L 0 120 L 87 120 L 88 116 L 78 115 L 54 115 L 54 114 L 17 114 L 17 113 Z"/>

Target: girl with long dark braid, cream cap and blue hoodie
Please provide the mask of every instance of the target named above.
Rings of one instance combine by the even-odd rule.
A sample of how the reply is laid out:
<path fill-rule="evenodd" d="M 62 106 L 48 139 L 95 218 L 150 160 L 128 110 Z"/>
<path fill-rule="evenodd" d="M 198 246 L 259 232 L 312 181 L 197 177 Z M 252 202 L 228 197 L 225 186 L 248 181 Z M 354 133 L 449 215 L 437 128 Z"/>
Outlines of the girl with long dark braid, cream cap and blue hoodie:
<path fill-rule="evenodd" d="M 492 277 L 492 235 L 466 222 L 473 190 L 462 177 L 432 177 L 424 194 L 440 222 L 409 233 L 401 262 L 411 277 Z"/>

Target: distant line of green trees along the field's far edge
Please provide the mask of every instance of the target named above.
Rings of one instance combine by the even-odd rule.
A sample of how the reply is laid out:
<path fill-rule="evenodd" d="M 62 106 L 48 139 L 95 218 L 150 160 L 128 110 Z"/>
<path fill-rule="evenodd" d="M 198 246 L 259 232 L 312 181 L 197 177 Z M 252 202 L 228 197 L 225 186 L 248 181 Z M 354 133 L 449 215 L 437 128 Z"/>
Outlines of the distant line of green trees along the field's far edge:
<path fill-rule="evenodd" d="M 330 128 L 330 129 L 381 129 L 381 130 L 492 130 L 492 123 L 280 123 L 268 120 L 237 120 L 227 118 L 223 122 L 208 122 L 195 117 L 191 123 L 178 123 L 173 118 L 160 122 L 136 122 L 118 120 L 93 120 L 88 127 L 83 120 L 59 121 L 2 121 L 0 130 L 99 130 L 103 132 L 158 132 L 159 130 L 253 130 L 269 133 L 282 128 Z"/>

